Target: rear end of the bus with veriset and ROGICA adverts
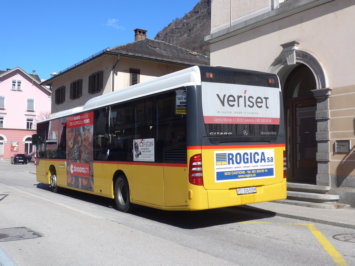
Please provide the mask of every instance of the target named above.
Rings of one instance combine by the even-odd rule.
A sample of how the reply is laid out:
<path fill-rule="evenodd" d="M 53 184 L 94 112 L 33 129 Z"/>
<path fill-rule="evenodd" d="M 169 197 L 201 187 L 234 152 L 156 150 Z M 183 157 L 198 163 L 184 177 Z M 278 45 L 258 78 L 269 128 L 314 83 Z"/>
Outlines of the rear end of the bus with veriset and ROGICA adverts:
<path fill-rule="evenodd" d="M 189 209 L 286 198 L 282 93 L 275 74 L 200 67 L 189 89 Z"/>

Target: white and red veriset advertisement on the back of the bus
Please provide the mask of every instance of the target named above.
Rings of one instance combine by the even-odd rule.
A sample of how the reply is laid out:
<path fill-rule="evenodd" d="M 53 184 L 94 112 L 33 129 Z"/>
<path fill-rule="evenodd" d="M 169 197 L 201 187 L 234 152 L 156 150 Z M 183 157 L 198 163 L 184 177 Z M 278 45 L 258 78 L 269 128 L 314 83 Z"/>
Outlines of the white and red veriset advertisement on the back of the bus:
<path fill-rule="evenodd" d="M 279 88 L 202 83 L 206 124 L 280 124 Z"/>

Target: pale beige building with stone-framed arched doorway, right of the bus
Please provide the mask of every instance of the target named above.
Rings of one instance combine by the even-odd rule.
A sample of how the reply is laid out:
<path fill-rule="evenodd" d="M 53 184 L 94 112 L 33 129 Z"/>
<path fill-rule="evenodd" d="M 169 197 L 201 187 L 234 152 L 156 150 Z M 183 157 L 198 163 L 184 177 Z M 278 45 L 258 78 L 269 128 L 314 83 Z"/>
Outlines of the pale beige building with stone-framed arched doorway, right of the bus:
<path fill-rule="evenodd" d="M 354 1 L 213 0 L 211 12 L 212 66 L 280 78 L 288 199 L 355 207 Z"/>

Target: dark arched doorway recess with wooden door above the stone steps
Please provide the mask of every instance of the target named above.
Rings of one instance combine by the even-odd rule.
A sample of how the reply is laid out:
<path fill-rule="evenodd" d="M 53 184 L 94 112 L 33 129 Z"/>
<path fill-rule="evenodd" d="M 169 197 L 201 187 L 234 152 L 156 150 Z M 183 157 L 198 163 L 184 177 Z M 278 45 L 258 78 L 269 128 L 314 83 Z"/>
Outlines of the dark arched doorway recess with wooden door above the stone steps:
<path fill-rule="evenodd" d="M 317 101 L 311 90 L 316 79 L 310 68 L 297 65 L 284 85 L 287 181 L 316 183 Z"/>

